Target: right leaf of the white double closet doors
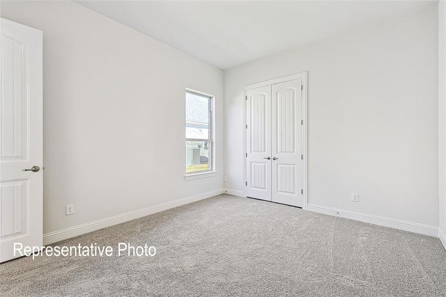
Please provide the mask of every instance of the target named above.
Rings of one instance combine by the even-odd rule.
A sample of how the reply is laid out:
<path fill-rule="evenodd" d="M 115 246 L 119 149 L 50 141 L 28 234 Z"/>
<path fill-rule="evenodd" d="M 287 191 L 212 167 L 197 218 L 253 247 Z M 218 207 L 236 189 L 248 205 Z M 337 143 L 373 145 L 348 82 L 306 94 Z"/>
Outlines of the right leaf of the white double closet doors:
<path fill-rule="evenodd" d="M 272 201 L 302 207 L 302 80 L 271 87 Z"/>

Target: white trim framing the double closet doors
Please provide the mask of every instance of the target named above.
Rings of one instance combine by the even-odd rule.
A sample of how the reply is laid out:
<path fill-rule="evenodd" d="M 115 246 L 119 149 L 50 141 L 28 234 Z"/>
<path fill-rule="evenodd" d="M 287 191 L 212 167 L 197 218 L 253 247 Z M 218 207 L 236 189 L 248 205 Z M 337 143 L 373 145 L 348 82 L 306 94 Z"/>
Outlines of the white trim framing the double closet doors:
<path fill-rule="evenodd" d="M 250 89 L 255 89 L 259 87 L 264 87 L 268 85 L 274 85 L 278 83 L 283 83 L 295 79 L 301 79 L 302 80 L 302 119 L 303 119 L 303 125 L 302 126 L 302 154 L 303 154 L 303 160 L 302 160 L 302 189 L 303 189 L 303 195 L 302 195 L 302 209 L 307 209 L 308 204 L 308 187 L 307 187 L 307 159 L 308 159 L 308 149 L 307 149 L 307 73 L 308 71 L 299 72 L 292 75 L 287 75 L 279 78 L 270 79 L 263 82 L 258 82 L 250 85 L 246 85 L 243 87 L 243 197 L 246 196 L 246 96 L 247 91 Z"/>

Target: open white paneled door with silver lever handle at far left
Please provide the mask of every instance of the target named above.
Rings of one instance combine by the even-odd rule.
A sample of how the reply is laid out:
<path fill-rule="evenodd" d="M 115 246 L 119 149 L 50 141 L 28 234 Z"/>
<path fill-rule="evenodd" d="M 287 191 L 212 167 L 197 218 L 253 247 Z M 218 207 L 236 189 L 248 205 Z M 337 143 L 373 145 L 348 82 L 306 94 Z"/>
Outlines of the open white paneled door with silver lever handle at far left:
<path fill-rule="evenodd" d="M 42 32 L 0 18 L 0 262 L 42 246 Z M 31 169 L 34 171 L 23 171 Z"/>

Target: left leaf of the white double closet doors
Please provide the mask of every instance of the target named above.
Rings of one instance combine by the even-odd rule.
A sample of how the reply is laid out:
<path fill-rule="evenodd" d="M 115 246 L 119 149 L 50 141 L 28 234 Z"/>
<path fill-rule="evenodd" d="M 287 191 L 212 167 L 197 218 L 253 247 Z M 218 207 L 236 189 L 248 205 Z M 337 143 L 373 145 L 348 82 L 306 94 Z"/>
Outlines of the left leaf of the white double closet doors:
<path fill-rule="evenodd" d="M 271 201 L 271 86 L 246 95 L 246 195 Z"/>

